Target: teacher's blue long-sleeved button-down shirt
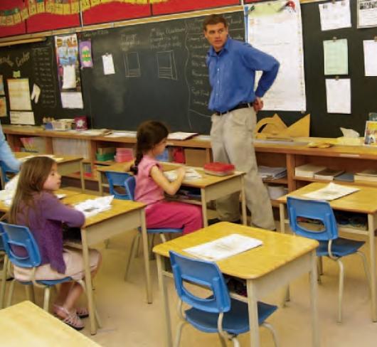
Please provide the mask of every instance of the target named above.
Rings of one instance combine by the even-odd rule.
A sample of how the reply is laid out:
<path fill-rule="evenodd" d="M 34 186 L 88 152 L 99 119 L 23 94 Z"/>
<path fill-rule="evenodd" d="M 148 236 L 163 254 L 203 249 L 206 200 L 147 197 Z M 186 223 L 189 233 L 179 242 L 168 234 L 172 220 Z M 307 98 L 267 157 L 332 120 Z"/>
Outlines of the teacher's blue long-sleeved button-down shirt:
<path fill-rule="evenodd" d="M 271 55 L 232 38 L 228 38 L 220 53 L 211 47 L 206 63 L 212 87 L 208 108 L 218 112 L 265 95 L 280 65 Z M 262 77 L 254 91 L 256 70 L 262 71 Z"/>

